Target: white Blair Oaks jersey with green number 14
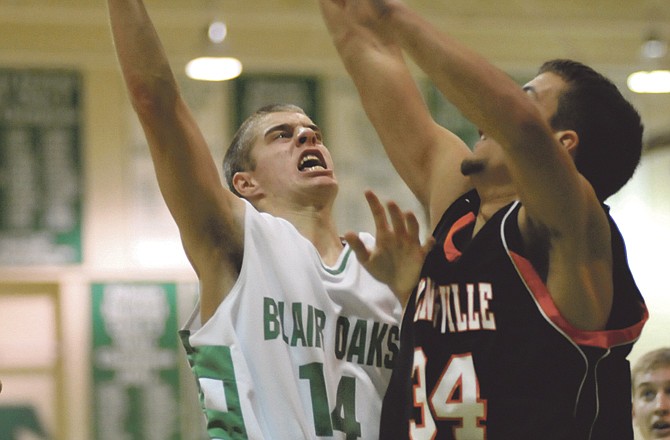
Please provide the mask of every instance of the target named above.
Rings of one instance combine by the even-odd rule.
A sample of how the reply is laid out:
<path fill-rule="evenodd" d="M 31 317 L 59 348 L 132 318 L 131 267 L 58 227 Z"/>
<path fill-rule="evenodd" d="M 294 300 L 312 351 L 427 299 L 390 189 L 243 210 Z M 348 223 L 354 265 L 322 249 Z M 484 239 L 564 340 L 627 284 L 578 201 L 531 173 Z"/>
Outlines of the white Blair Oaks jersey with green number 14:
<path fill-rule="evenodd" d="M 293 225 L 248 203 L 244 240 L 230 293 L 182 332 L 210 438 L 377 439 L 396 297 L 348 246 L 327 267 Z"/>

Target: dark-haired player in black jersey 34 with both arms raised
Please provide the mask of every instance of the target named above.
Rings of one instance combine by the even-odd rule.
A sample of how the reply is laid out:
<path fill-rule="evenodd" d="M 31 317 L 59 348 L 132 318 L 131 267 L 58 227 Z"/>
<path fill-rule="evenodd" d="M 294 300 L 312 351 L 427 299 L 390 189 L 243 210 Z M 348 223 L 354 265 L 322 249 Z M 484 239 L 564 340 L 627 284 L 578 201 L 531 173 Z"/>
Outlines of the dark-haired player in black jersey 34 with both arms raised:
<path fill-rule="evenodd" d="M 408 285 L 414 260 L 389 264 L 396 209 L 387 223 L 368 194 L 377 248 L 348 236 L 406 303 L 381 438 L 632 439 L 626 356 L 647 310 L 603 202 L 639 162 L 637 112 L 574 61 L 519 87 L 400 1 L 320 5 L 437 242 Z M 480 127 L 472 151 L 431 118 L 403 52 Z"/>

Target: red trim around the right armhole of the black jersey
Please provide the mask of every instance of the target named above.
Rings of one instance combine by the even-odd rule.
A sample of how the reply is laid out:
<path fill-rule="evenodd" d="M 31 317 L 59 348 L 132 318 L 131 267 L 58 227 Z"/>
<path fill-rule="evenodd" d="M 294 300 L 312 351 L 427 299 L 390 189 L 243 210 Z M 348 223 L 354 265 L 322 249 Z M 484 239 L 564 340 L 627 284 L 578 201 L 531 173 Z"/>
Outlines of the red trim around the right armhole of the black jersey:
<path fill-rule="evenodd" d="M 585 331 L 575 328 L 561 315 L 553 298 L 549 294 L 547 286 L 542 282 L 530 261 L 519 254 L 510 251 L 510 256 L 519 274 L 526 282 L 535 302 L 540 306 L 544 314 L 563 330 L 578 345 L 591 347 L 610 348 L 631 341 L 635 341 L 642 332 L 645 322 L 649 318 L 649 312 L 644 304 L 641 304 L 642 318 L 636 324 L 616 330 Z"/>

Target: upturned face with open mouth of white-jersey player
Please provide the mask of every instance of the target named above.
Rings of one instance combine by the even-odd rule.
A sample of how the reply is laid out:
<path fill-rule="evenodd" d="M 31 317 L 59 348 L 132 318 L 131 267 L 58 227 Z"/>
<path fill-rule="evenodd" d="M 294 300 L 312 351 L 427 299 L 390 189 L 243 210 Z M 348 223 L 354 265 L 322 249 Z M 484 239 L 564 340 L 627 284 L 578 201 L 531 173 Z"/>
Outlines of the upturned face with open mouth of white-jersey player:
<path fill-rule="evenodd" d="M 330 152 L 323 144 L 321 130 L 309 117 L 277 112 L 259 125 L 252 151 L 254 175 L 267 195 L 337 189 Z"/>

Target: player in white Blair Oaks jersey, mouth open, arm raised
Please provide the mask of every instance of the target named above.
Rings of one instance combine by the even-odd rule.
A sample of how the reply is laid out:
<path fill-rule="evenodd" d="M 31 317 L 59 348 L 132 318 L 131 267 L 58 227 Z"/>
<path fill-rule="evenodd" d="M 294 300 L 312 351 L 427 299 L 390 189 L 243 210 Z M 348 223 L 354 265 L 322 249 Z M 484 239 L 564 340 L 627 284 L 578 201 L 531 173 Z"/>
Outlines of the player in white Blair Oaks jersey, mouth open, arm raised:
<path fill-rule="evenodd" d="M 158 183 L 200 282 L 182 340 L 208 435 L 378 438 L 401 306 L 336 230 L 338 184 L 321 131 L 295 106 L 262 109 L 233 140 L 232 191 L 224 188 L 142 1 L 108 6 Z M 399 215 L 416 236 L 416 218 Z"/>

